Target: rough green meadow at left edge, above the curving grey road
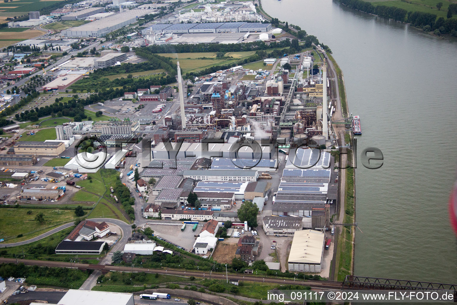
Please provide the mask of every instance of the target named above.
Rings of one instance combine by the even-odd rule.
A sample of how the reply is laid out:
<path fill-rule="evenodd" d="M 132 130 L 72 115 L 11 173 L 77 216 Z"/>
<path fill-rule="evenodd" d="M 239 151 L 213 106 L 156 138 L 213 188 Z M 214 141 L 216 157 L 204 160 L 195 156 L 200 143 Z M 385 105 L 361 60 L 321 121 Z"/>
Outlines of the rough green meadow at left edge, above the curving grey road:
<path fill-rule="evenodd" d="M 40 230 L 55 227 L 70 222 L 74 218 L 73 210 L 56 209 L 31 209 L 32 214 L 27 214 L 28 209 L 1 209 L 0 211 L 0 236 L 8 242 L 16 242 L 19 234 L 27 235 L 30 239 L 40 235 Z M 44 214 L 44 222 L 35 220 L 37 214 Z M 42 232 L 43 233 L 43 232 Z"/>

